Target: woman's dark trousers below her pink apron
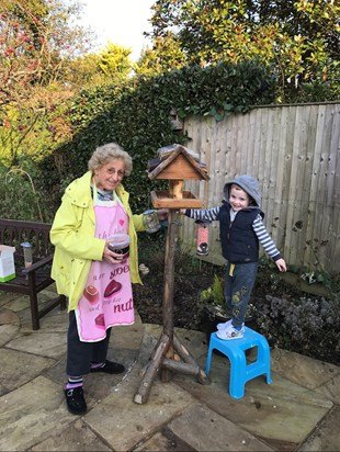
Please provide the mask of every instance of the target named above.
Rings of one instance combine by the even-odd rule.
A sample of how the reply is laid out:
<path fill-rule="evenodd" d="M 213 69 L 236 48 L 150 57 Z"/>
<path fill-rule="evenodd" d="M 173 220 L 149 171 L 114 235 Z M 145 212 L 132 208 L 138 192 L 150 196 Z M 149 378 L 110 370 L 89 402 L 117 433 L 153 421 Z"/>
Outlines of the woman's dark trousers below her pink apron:
<path fill-rule="evenodd" d="M 66 373 L 70 376 L 88 374 L 91 363 L 105 362 L 111 336 L 111 328 L 106 330 L 105 339 L 99 342 L 81 342 L 77 329 L 75 310 L 69 313 L 67 334 Z"/>

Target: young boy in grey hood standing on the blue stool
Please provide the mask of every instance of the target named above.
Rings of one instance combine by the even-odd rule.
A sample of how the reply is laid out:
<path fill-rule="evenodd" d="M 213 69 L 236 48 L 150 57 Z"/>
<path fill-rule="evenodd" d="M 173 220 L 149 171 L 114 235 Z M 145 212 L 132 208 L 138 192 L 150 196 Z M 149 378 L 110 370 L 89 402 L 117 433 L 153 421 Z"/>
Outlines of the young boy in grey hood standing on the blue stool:
<path fill-rule="evenodd" d="M 263 224 L 257 180 L 247 174 L 235 178 L 225 184 L 224 197 L 220 206 L 181 212 L 194 219 L 219 221 L 222 253 L 227 260 L 225 298 L 231 320 L 217 325 L 217 336 L 230 340 L 243 337 L 246 310 L 258 271 L 259 242 L 280 271 L 286 271 L 286 263 Z"/>

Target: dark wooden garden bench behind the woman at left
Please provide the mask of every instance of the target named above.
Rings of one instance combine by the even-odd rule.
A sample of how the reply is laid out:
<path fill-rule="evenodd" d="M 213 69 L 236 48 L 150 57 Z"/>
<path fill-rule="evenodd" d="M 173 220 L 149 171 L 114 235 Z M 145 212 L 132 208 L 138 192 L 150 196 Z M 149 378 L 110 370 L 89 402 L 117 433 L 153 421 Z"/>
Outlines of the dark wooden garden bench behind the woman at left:
<path fill-rule="evenodd" d="M 0 244 L 15 247 L 15 278 L 0 282 L 0 291 L 30 296 L 32 328 L 39 329 L 39 319 L 57 305 L 66 309 L 66 297 L 59 295 L 38 308 L 37 294 L 54 283 L 50 268 L 54 247 L 49 241 L 50 224 L 0 218 Z M 33 264 L 24 268 L 23 249 L 20 244 L 30 241 L 33 246 Z"/>

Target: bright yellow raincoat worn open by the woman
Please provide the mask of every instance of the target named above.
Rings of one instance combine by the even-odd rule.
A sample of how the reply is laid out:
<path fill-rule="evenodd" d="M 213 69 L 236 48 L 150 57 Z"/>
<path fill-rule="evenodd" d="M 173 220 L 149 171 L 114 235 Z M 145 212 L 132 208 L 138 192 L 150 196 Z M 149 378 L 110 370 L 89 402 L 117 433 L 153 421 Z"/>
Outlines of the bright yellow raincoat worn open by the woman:
<path fill-rule="evenodd" d="M 68 310 L 76 309 L 86 286 L 92 260 L 102 260 L 105 240 L 95 238 L 95 216 L 91 197 L 92 172 L 71 182 L 65 191 L 50 229 L 50 241 L 55 246 L 52 278 L 58 294 L 69 300 Z M 120 184 L 116 189 L 128 215 L 129 268 L 133 283 L 141 284 L 138 272 L 136 231 L 145 230 L 143 214 L 133 215 L 129 194 Z"/>

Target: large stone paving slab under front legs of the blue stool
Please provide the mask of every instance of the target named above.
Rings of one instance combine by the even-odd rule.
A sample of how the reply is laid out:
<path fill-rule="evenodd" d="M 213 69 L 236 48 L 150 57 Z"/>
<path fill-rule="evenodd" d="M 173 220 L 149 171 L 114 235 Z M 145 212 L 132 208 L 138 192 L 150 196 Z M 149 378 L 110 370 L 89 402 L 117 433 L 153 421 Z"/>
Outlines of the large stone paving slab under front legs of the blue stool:
<path fill-rule="evenodd" d="M 286 450 L 295 449 L 331 409 L 332 403 L 280 375 L 272 377 L 270 385 L 264 376 L 251 380 L 246 385 L 245 397 L 234 399 L 228 393 L 228 360 L 215 357 L 209 385 L 200 385 L 181 375 L 175 375 L 174 382 L 264 442 Z"/>

